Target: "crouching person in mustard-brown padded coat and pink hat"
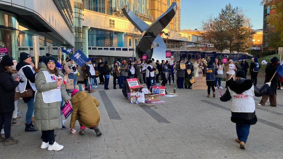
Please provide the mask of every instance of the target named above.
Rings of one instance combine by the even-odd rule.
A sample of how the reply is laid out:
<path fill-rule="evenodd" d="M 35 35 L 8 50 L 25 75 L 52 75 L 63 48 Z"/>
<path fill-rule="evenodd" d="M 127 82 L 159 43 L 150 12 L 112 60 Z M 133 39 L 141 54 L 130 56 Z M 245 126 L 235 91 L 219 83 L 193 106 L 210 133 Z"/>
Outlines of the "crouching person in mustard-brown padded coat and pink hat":
<path fill-rule="evenodd" d="M 85 129 L 93 129 L 97 136 L 101 136 L 101 132 L 98 129 L 100 113 L 97 107 L 99 101 L 87 94 L 85 91 L 79 92 L 78 89 L 74 89 L 72 94 L 72 116 L 70 121 L 70 131 L 75 128 L 76 120 L 79 121 L 81 130 L 79 134 L 85 134 Z"/>

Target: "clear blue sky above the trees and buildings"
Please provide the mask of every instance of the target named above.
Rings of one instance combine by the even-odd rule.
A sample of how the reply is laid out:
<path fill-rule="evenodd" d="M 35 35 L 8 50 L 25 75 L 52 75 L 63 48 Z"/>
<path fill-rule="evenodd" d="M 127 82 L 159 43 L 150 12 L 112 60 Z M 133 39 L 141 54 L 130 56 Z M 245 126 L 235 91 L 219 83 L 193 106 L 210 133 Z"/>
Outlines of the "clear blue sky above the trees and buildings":
<path fill-rule="evenodd" d="M 252 29 L 263 27 L 262 0 L 181 0 L 181 30 L 202 29 L 202 20 L 209 15 L 217 17 L 221 8 L 231 3 L 233 7 L 241 8 L 244 14 L 251 19 Z"/>

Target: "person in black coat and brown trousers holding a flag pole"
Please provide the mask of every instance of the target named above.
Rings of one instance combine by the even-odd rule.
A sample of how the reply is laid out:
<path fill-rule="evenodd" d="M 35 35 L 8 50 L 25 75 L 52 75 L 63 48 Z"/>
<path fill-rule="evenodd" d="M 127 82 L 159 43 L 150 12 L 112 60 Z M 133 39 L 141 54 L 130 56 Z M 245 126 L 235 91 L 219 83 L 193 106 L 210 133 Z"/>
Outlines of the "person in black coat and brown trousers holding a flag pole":
<path fill-rule="evenodd" d="M 273 76 L 273 74 L 275 73 L 275 71 L 277 70 L 277 68 L 279 67 L 280 63 L 278 62 L 278 58 L 277 57 L 273 57 L 271 59 L 271 63 L 269 65 L 266 66 L 265 68 L 265 81 L 269 82 Z M 272 81 L 271 81 L 271 85 L 270 85 L 270 89 L 267 92 L 267 94 L 265 94 L 264 96 L 262 96 L 262 99 L 260 100 L 260 103 L 258 103 L 258 106 L 262 106 L 265 105 L 266 101 L 269 98 L 269 102 L 270 102 L 270 106 L 272 107 L 276 107 L 277 102 L 276 102 L 276 88 L 277 88 L 277 83 L 280 80 L 280 75 L 278 73 L 275 74 L 275 76 L 273 77 Z"/>

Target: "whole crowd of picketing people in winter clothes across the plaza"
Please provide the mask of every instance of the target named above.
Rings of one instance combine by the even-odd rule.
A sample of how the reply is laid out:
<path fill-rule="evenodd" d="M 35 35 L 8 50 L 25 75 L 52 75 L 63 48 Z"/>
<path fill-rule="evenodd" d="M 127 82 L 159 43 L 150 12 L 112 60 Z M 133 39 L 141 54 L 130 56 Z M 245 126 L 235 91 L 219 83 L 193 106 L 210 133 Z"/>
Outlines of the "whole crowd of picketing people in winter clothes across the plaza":
<path fill-rule="evenodd" d="M 271 106 L 276 106 L 276 89 L 281 88 L 280 75 L 273 74 L 280 65 L 276 57 L 271 59 L 271 63 L 265 69 L 265 85 L 257 88 L 257 74 L 260 70 L 260 63 L 257 58 L 252 58 L 250 65 L 246 59 L 233 62 L 230 58 L 225 65 L 221 59 L 215 62 L 198 58 L 195 63 L 191 59 L 182 58 L 174 61 L 172 65 L 164 59 L 120 59 L 109 65 L 108 61 L 99 59 L 98 63 L 89 59 L 82 67 L 75 64 L 70 58 L 66 58 L 61 64 L 57 59 L 46 54 L 39 60 L 38 69 L 30 54 L 20 53 L 19 63 L 12 57 L 5 55 L 0 61 L 0 128 L 4 127 L 5 138 L 0 136 L 0 142 L 4 145 L 16 144 L 19 140 L 10 135 L 11 121 L 17 123 L 17 105 L 20 98 L 27 103 L 25 131 L 41 130 L 41 148 L 59 151 L 62 145 L 55 142 L 55 129 L 66 129 L 63 125 L 61 108 L 64 102 L 72 102 L 74 112 L 71 115 L 70 131 L 75 134 L 75 122 L 79 121 L 79 134 L 85 133 L 85 128 L 93 129 L 97 136 L 101 135 L 98 128 L 100 120 L 99 101 L 87 92 L 79 92 L 75 89 L 77 82 L 82 82 L 86 90 L 95 92 L 99 84 L 104 85 L 108 90 L 110 76 L 113 76 L 113 89 L 118 83 L 119 89 L 123 88 L 123 83 L 127 78 L 137 78 L 140 84 L 146 84 L 147 88 L 160 83 L 165 86 L 172 82 L 176 83 L 178 89 L 191 89 L 191 78 L 205 77 L 207 97 L 210 97 L 211 89 L 215 97 L 215 87 L 220 89 L 224 70 L 226 70 L 226 92 L 220 98 L 221 101 L 231 100 L 232 122 L 236 123 L 236 141 L 240 143 L 240 148 L 245 148 L 245 143 L 249 134 L 250 125 L 256 123 L 255 104 L 253 96 L 262 96 L 259 106 L 265 105 L 270 100 Z M 226 68 L 226 69 L 224 69 Z M 81 73 L 83 76 L 80 76 Z M 247 74 L 251 74 L 251 80 L 247 80 Z M 99 82 L 97 79 L 99 78 Z M 282 77 L 281 77 L 282 78 Z M 160 82 L 161 80 L 162 82 Z M 269 82 L 271 80 L 271 82 Z M 283 82 L 283 81 L 282 81 Z M 240 89 L 239 89 L 240 88 Z M 70 96 L 71 94 L 71 96 Z M 239 104 L 236 95 L 246 94 L 248 98 L 240 102 L 247 102 L 248 105 Z M 237 101 L 237 102 L 236 102 Z M 244 106 L 244 107 L 243 107 Z M 94 116 L 94 118 L 89 118 Z"/>

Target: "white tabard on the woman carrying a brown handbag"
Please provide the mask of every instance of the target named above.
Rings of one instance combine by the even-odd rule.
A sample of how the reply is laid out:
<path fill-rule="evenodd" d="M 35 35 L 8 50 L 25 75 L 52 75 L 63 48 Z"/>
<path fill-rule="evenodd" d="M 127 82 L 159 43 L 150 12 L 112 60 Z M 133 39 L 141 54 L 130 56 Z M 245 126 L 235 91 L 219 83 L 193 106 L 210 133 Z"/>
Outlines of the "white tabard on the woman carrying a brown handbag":
<path fill-rule="evenodd" d="M 25 66 L 23 66 L 23 67 L 19 70 L 19 72 L 18 72 L 18 74 L 17 74 L 17 77 L 22 78 L 21 80 L 23 81 L 23 83 L 20 83 L 20 84 L 18 85 L 18 87 L 16 87 L 16 92 L 21 92 L 21 93 L 23 93 L 23 92 L 25 91 L 25 89 L 26 89 L 26 84 L 27 84 L 27 82 L 29 82 L 29 83 L 30 83 L 30 86 L 32 87 L 32 89 L 33 89 L 34 91 L 36 91 L 35 83 L 30 82 L 30 81 L 26 78 L 25 74 L 23 73 L 23 68 L 24 68 L 24 67 L 30 67 L 30 69 L 32 70 L 33 74 L 35 73 L 35 70 L 31 67 L 31 65 L 25 65 Z"/>

